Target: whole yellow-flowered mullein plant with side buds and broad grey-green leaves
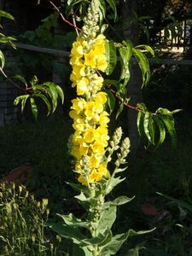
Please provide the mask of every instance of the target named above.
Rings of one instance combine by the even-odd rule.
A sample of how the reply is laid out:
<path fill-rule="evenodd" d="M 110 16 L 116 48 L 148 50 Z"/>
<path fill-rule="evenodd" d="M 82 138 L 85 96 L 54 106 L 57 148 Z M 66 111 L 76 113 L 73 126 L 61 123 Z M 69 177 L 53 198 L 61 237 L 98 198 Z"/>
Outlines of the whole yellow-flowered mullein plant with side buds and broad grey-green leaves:
<path fill-rule="evenodd" d="M 115 236 L 112 233 L 117 207 L 132 200 L 119 196 L 113 201 L 106 201 L 112 189 L 125 179 L 119 176 L 119 172 L 126 169 L 121 166 L 126 163 L 130 141 L 129 138 L 121 141 L 121 128 L 114 131 L 111 139 L 108 136 L 108 95 L 103 91 L 104 79 L 101 75 L 101 72 L 108 70 L 108 40 L 97 25 L 99 3 L 98 0 L 91 1 L 84 26 L 73 43 L 70 55 L 70 79 L 76 88 L 77 98 L 73 99 L 69 113 L 74 129 L 69 150 L 79 183 L 69 184 L 79 190 L 80 194 L 75 198 L 84 207 L 85 214 L 82 218 L 76 218 L 72 213 L 58 214 L 62 222 L 50 224 L 60 236 L 73 241 L 71 255 L 74 256 L 115 255 L 129 236 L 150 231 L 128 230 Z M 113 162 L 113 171 L 110 172 L 108 164 L 115 152 L 117 160 Z"/>

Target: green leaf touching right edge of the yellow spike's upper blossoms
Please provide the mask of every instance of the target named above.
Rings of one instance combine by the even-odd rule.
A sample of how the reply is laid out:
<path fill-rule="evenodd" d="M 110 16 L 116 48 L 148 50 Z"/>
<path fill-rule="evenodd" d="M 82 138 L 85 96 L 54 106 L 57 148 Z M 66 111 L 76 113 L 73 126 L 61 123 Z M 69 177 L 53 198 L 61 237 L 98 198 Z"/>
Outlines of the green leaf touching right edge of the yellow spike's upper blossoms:
<path fill-rule="evenodd" d="M 108 62 L 108 67 L 105 73 L 107 73 L 107 75 L 110 75 L 111 73 L 113 73 L 114 67 L 116 67 L 117 64 L 116 47 L 114 46 L 113 41 L 106 40 L 105 50 Z"/>

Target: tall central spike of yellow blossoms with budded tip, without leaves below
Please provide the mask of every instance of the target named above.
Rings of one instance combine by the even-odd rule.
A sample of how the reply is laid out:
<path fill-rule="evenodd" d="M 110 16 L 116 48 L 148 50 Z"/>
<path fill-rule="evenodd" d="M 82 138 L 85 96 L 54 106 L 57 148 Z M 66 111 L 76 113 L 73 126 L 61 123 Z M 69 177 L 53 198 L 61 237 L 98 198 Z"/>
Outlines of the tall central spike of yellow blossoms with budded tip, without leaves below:
<path fill-rule="evenodd" d="M 105 37 L 98 34 L 99 2 L 93 0 L 84 18 L 83 32 L 73 43 L 70 76 L 76 87 L 77 99 L 72 101 L 70 116 L 75 130 L 71 154 L 75 172 L 84 185 L 97 183 L 108 177 L 105 150 L 108 146 L 108 113 L 105 111 L 107 95 L 102 92 L 103 79 L 97 71 L 105 72 L 108 64 L 105 55 Z M 86 165 L 84 160 L 86 159 Z M 86 170 L 85 170 L 86 169 Z"/>

